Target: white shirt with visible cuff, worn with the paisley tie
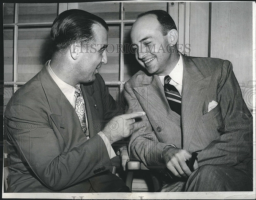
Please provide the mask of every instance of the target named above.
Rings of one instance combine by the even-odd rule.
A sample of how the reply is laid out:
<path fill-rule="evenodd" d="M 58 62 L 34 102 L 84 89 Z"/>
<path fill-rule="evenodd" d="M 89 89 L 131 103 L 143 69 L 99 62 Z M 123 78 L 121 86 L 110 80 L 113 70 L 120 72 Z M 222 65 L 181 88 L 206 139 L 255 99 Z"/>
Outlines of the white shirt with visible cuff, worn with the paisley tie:
<path fill-rule="evenodd" d="M 62 81 L 51 69 L 50 67 L 50 61 L 47 63 L 46 65 L 46 69 L 49 72 L 50 76 L 52 77 L 52 79 L 54 80 L 54 82 L 58 85 L 58 87 L 60 88 L 60 90 L 62 91 L 62 93 L 65 95 L 65 97 L 68 99 L 69 103 L 73 106 L 73 108 L 75 109 L 75 105 L 76 105 L 76 94 L 75 94 L 75 87 L 72 85 L 69 85 L 67 83 L 65 83 L 64 81 Z M 80 84 L 77 85 L 80 88 Z M 85 111 L 85 119 L 86 119 L 86 125 L 87 125 L 87 130 L 88 130 L 88 121 L 87 121 L 87 115 L 86 115 L 86 111 Z M 88 130 L 88 134 L 89 134 L 89 130 Z M 108 140 L 108 138 L 105 136 L 105 134 L 103 132 L 99 132 L 98 135 L 102 138 L 102 140 L 104 141 L 106 148 L 108 150 L 108 154 L 110 159 L 115 157 L 116 154 Z"/>

